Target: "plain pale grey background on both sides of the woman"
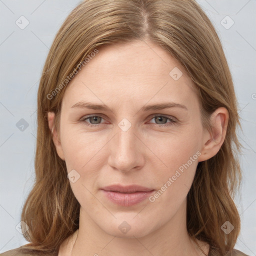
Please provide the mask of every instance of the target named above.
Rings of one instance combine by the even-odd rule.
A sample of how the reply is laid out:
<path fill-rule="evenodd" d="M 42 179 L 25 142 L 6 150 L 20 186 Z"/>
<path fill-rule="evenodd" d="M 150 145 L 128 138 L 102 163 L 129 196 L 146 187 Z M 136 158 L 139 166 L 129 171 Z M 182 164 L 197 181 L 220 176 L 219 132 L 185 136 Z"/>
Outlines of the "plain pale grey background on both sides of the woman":
<path fill-rule="evenodd" d="M 220 36 L 239 101 L 239 139 L 243 170 L 241 198 L 236 197 L 241 233 L 235 248 L 256 255 L 256 1 L 198 0 Z M 52 40 L 78 0 L 0 0 L 0 252 L 27 241 L 15 229 L 21 206 L 30 191 L 34 167 L 36 94 L 38 80 Z M 20 29 L 23 15 L 29 24 Z M 234 24 L 229 26 L 231 19 Z M 20 22 L 20 21 L 19 21 Z M 22 21 L 24 24 L 24 20 Z M 21 131 L 16 123 L 25 119 Z"/>

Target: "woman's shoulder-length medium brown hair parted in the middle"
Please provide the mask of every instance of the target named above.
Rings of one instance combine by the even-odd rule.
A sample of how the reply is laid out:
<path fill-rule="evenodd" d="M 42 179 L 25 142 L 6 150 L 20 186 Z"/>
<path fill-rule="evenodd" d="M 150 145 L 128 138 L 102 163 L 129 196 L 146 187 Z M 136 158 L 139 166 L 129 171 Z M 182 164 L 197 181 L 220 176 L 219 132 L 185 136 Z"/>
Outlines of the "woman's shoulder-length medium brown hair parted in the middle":
<path fill-rule="evenodd" d="M 79 208 L 56 152 L 48 128 L 47 112 L 54 111 L 59 129 L 66 77 L 95 49 L 116 42 L 149 39 L 174 57 L 191 77 L 199 98 L 203 127 L 211 131 L 209 115 L 218 107 L 228 110 L 226 136 L 219 151 L 197 165 L 187 195 L 187 231 L 208 242 L 220 254 L 231 250 L 240 231 L 240 218 L 232 200 L 241 170 L 240 126 L 232 77 L 219 37 L 195 0 L 84 0 L 58 30 L 49 50 L 37 95 L 35 183 L 22 209 L 25 248 L 50 253 L 79 226 Z M 85 66 L 86 68 L 86 66 Z M 60 86 L 56 92 L 56 87 Z M 55 90 L 49 99 L 49 94 Z M 221 225 L 234 229 L 225 234 Z"/>

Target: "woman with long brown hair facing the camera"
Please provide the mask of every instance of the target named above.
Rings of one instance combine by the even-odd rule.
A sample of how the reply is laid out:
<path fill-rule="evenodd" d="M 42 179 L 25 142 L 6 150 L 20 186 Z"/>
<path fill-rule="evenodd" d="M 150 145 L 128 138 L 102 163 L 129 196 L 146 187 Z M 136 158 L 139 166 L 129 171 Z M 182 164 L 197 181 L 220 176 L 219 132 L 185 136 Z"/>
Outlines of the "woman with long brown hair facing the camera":
<path fill-rule="evenodd" d="M 245 255 L 236 97 L 194 0 L 81 2 L 37 103 L 29 243 L 1 255 Z"/>

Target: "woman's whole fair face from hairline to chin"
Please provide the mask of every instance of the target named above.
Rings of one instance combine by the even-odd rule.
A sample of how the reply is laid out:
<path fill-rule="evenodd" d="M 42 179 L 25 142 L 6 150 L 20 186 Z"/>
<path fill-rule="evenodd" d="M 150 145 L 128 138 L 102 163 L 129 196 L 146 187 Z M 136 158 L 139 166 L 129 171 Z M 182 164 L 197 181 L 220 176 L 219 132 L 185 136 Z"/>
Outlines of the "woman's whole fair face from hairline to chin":
<path fill-rule="evenodd" d="M 184 213 L 205 142 L 192 86 L 166 51 L 141 41 L 99 48 L 69 82 L 55 145 L 83 216 L 101 230 L 140 237 Z"/>

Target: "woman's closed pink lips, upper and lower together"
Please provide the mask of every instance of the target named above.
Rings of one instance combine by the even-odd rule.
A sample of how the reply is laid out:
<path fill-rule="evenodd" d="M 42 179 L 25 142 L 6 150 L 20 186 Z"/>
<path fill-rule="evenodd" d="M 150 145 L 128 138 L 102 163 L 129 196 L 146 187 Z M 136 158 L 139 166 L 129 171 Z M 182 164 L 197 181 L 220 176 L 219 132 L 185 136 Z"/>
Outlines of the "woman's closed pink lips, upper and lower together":
<path fill-rule="evenodd" d="M 103 194 L 113 203 L 122 206 L 131 206 L 142 202 L 154 191 L 154 189 L 140 186 L 119 184 L 101 188 Z"/>

